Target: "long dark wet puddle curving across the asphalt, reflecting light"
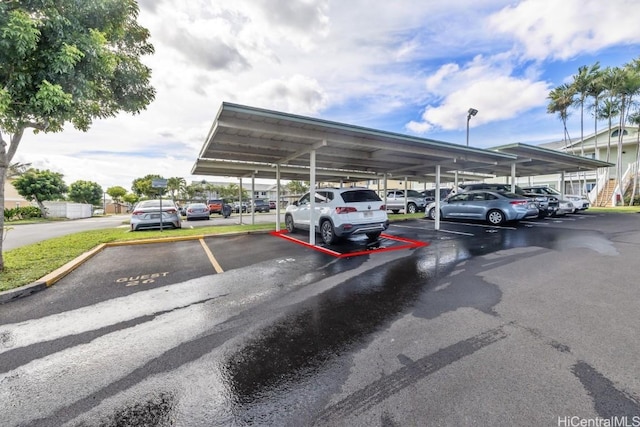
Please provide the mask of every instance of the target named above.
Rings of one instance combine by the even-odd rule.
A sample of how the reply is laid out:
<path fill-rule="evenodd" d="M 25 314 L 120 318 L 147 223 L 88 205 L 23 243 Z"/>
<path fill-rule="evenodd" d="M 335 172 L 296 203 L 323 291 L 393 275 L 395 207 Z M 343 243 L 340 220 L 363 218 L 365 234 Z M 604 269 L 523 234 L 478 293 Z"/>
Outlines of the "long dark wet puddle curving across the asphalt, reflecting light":
<path fill-rule="evenodd" d="M 462 288 L 448 289 L 451 295 L 446 300 L 438 300 L 445 295 L 434 298 L 439 277 L 448 275 L 457 264 L 470 258 L 529 246 L 554 250 L 585 247 L 603 254 L 615 252 L 611 250 L 611 243 L 598 233 L 530 228 L 445 240 L 415 250 L 410 256 L 352 277 L 292 307 L 277 323 L 261 330 L 257 338 L 247 342 L 226 362 L 229 390 L 235 394 L 233 400 L 240 406 L 251 404 L 268 396 L 268 390 L 286 388 L 288 383 L 313 376 L 328 360 L 354 346 L 364 345 L 368 335 L 418 301 L 421 305 L 414 314 L 427 318 L 460 306 L 492 313 L 501 298 L 495 285 L 467 280 Z M 424 304 L 425 300 L 438 304 Z"/>

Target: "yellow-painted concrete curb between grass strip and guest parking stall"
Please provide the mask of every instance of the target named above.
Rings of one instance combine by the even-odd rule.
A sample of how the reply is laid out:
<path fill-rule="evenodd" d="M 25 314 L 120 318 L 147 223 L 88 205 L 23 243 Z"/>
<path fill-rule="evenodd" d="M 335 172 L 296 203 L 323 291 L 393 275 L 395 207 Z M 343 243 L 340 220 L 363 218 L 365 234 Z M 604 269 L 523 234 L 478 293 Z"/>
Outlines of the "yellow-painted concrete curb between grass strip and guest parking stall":
<path fill-rule="evenodd" d="M 102 252 L 104 248 L 108 247 L 117 247 L 117 246 L 132 246 L 132 245 L 146 245 L 151 243 L 170 243 L 170 242 L 181 242 L 188 240 L 200 240 L 207 237 L 228 237 L 228 236 L 242 236 L 248 234 L 268 234 L 273 230 L 255 230 L 255 231 L 240 231 L 233 233 L 220 233 L 220 234 L 198 234 L 195 236 L 176 236 L 176 237 L 160 237 L 156 239 L 145 239 L 145 240 L 131 240 L 125 242 L 111 242 L 111 243 L 102 243 L 95 248 L 91 249 L 80 255 L 79 257 L 69 261 L 62 267 L 57 268 L 46 276 L 36 280 L 33 283 L 30 283 L 25 286 L 21 286 L 15 289 L 9 289 L 8 291 L 0 292 L 0 304 L 5 304 L 11 301 L 15 301 L 20 298 L 28 297 L 36 292 L 40 292 L 42 290 L 47 289 L 49 286 L 52 286 L 54 283 L 65 277 L 67 274 L 71 273 L 73 270 L 84 264 L 86 261 L 94 257 L 96 254 Z"/>

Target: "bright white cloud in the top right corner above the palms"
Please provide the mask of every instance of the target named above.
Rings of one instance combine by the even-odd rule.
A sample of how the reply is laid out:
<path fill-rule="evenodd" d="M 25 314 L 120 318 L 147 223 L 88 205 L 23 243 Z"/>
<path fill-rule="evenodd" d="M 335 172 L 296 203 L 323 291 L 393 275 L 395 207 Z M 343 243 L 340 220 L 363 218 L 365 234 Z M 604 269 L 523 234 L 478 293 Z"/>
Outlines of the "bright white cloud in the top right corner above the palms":
<path fill-rule="evenodd" d="M 640 42 L 637 0 L 525 0 L 489 18 L 513 35 L 528 58 L 569 59 L 582 53 Z"/>

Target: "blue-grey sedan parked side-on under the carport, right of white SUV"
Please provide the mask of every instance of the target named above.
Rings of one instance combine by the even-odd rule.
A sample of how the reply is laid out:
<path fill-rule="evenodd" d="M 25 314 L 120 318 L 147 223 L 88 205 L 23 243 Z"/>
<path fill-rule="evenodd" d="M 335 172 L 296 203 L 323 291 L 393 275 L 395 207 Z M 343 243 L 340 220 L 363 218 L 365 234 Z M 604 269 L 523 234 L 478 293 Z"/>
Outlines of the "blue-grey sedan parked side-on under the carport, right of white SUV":
<path fill-rule="evenodd" d="M 533 200 L 504 191 L 464 191 L 440 202 L 441 218 L 476 219 L 500 225 L 535 216 L 538 208 Z M 427 207 L 427 217 L 435 219 L 435 202 Z"/>

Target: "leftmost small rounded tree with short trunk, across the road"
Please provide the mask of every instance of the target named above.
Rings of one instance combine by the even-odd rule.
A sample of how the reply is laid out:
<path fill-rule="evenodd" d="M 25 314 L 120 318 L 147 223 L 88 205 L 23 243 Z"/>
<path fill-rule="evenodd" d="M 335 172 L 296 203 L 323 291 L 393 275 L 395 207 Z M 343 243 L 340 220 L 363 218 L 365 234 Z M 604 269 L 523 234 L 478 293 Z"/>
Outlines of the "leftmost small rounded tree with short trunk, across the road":
<path fill-rule="evenodd" d="M 35 201 L 42 211 L 42 216 L 47 217 L 47 209 L 42 202 L 64 198 L 67 185 L 62 180 L 62 174 L 29 169 L 13 181 L 13 186 L 22 197 L 29 201 Z"/>

